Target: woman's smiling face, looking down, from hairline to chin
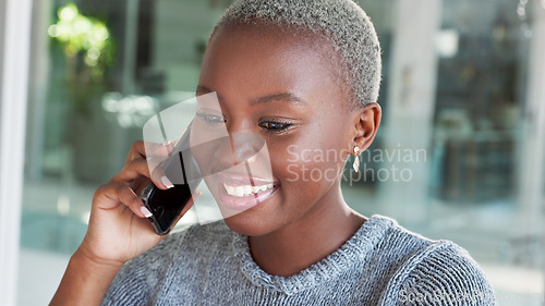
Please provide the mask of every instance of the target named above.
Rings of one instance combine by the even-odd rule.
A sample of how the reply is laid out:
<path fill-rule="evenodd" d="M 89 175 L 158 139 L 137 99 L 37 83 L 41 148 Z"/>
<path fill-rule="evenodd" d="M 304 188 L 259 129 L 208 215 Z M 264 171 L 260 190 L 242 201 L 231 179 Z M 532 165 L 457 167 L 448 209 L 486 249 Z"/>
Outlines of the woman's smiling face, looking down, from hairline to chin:
<path fill-rule="evenodd" d="M 353 147 L 350 111 L 331 70 L 337 65 L 310 39 L 272 29 L 227 28 L 215 35 L 205 53 L 197 95 L 216 91 L 220 110 L 199 106 L 192 139 L 206 136 L 199 135 L 206 133 L 203 127 L 225 121 L 230 143 L 210 149 L 206 167 L 210 172 L 227 170 L 207 184 L 228 209 L 242 211 L 226 219 L 239 233 L 263 235 L 293 222 L 319 221 L 331 209 L 328 204 L 339 199 L 339 174 Z M 264 155 L 246 162 L 261 162 L 251 169 L 271 174 L 252 174 L 250 181 L 262 188 L 247 194 L 243 171 L 228 168 L 259 139 L 270 164 L 259 160 Z M 240 163 L 239 170 L 246 166 Z"/>

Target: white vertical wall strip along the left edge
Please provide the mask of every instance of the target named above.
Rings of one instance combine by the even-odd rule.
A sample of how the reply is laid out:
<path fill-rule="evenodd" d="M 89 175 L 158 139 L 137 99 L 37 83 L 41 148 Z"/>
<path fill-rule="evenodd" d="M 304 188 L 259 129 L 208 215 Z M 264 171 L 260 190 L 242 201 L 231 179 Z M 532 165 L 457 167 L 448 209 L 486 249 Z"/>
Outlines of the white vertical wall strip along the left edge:
<path fill-rule="evenodd" d="M 0 305 L 15 305 L 32 0 L 0 1 Z"/>

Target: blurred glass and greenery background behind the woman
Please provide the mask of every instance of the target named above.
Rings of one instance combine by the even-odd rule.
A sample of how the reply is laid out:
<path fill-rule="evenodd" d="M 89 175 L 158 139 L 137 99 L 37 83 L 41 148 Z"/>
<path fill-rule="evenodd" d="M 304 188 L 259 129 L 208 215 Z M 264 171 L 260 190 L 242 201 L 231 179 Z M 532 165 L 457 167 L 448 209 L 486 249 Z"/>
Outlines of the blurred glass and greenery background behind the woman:
<path fill-rule="evenodd" d="M 20 247 L 0 252 L 19 258 L 3 280 L 16 305 L 44 305 L 96 187 L 148 118 L 194 93 L 231 1 L 28 2 L 22 197 L 0 203 L 21 206 Z M 545 305 L 545 1 L 358 2 L 383 47 L 385 117 L 362 171 L 346 172 L 347 201 L 467 248 L 499 305 Z"/>

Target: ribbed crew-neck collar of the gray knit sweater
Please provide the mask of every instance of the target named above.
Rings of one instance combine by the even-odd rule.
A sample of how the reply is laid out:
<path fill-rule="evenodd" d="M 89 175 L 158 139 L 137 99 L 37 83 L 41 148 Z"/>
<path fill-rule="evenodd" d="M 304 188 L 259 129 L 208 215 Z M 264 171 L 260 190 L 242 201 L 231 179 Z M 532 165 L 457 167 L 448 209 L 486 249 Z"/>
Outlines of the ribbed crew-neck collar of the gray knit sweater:
<path fill-rule="evenodd" d="M 243 274 L 254 285 L 291 295 L 337 278 L 350 270 L 355 262 L 365 260 L 366 255 L 395 224 L 396 221 L 389 218 L 373 215 L 340 248 L 289 278 L 271 276 L 262 270 L 252 258 L 247 236 L 237 234 L 232 246 Z"/>

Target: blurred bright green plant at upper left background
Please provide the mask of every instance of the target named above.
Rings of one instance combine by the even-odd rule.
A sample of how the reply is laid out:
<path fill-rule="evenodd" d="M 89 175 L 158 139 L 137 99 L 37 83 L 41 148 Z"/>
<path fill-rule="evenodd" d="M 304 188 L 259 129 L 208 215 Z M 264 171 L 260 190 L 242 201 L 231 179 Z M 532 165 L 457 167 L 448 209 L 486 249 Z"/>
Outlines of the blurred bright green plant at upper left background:
<path fill-rule="evenodd" d="M 81 14 L 74 3 L 60 8 L 57 15 L 47 32 L 62 46 L 72 98 L 76 110 L 85 112 L 88 102 L 104 93 L 106 69 L 116 47 L 106 24 Z"/>

